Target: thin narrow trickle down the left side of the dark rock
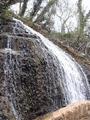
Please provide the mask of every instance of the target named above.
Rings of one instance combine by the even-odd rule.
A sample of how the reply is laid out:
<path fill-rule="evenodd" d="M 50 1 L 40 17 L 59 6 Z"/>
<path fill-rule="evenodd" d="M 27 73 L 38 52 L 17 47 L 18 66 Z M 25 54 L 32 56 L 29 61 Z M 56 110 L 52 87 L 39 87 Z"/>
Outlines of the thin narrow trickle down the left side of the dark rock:
<path fill-rule="evenodd" d="M 11 111 L 15 117 L 16 120 L 20 120 L 17 114 L 17 111 L 15 110 L 15 101 L 12 97 L 12 91 L 16 93 L 15 87 L 13 85 L 13 78 L 15 78 L 14 75 L 14 69 L 13 69 L 13 59 L 12 56 L 18 55 L 16 51 L 13 51 L 11 49 L 11 38 L 8 35 L 6 48 L 1 50 L 1 52 L 4 54 L 4 75 L 5 75 L 5 81 L 4 81 L 4 87 L 5 87 L 5 94 L 7 101 L 9 102 L 9 105 L 11 107 Z M 13 76 L 13 77 L 12 77 Z"/>

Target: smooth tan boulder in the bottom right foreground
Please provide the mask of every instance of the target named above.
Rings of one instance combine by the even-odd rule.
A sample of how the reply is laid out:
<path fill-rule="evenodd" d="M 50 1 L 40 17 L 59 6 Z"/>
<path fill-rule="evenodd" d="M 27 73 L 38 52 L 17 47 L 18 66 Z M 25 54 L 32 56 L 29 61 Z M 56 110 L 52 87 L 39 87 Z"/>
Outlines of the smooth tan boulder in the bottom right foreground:
<path fill-rule="evenodd" d="M 71 104 L 35 120 L 90 120 L 90 102 Z"/>

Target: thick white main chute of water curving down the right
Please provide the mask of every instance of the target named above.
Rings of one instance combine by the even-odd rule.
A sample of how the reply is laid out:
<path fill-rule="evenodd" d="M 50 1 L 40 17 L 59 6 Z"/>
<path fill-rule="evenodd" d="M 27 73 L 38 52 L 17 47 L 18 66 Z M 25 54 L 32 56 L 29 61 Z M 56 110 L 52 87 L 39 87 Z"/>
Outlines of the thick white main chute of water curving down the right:
<path fill-rule="evenodd" d="M 89 83 L 81 66 L 74 60 L 74 58 L 42 36 L 40 33 L 23 24 L 23 22 L 17 19 L 14 20 L 17 21 L 17 23 L 22 24 L 29 34 L 38 36 L 47 47 L 48 51 L 57 57 L 59 61 L 58 66 L 62 71 L 61 87 L 64 91 L 66 104 L 87 99 L 86 91 L 87 89 L 89 90 Z"/>

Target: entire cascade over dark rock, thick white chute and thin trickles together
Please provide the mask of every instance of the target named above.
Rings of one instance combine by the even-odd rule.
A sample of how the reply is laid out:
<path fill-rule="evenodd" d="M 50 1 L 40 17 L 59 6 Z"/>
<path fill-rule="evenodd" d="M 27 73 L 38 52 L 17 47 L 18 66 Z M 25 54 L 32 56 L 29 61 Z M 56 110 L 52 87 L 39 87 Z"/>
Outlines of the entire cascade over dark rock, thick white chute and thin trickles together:
<path fill-rule="evenodd" d="M 89 99 L 87 77 L 70 55 L 17 19 L 9 26 L 2 30 L 5 45 L 0 53 L 5 96 L 15 120 L 30 120 Z"/>

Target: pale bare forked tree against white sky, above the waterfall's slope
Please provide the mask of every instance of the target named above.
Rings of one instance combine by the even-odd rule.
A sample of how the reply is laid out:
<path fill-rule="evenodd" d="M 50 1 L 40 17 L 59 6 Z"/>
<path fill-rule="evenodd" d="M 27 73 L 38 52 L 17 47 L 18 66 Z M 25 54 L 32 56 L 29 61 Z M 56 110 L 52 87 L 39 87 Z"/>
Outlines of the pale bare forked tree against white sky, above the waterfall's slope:
<path fill-rule="evenodd" d="M 60 19 L 61 33 L 65 33 L 65 29 L 69 28 L 67 22 L 73 16 L 73 10 L 69 7 L 68 0 L 60 0 L 58 3 L 57 17 Z M 69 31 L 69 30 L 68 30 Z"/>

